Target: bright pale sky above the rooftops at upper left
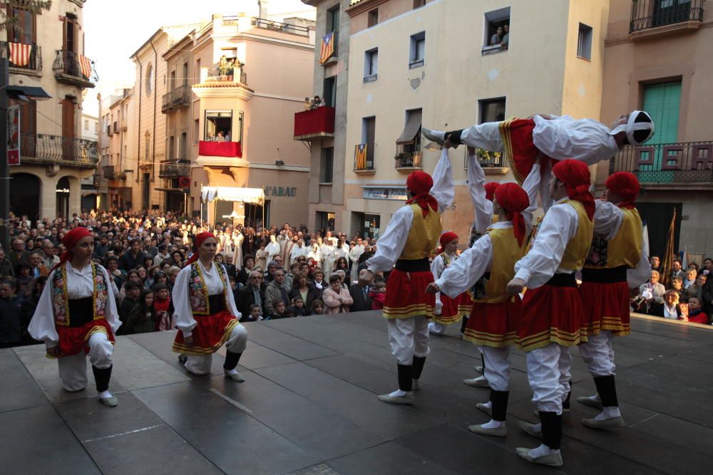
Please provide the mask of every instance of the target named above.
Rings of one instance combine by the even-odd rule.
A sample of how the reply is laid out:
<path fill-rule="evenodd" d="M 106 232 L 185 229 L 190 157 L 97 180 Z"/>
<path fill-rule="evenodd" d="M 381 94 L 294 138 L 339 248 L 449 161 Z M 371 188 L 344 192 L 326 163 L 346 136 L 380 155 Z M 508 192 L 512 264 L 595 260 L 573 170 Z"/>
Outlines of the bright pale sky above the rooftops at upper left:
<path fill-rule="evenodd" d="M 269 0 L 270 14 L 305 11 L 300 0 Z M 84 113 L 97 115 L 97 93 L 104 97 L 133 85 L 134 63 L 129 59 L 158 28 L 210 19 L 212 14 L 257 16 L 257 0 L 89 0 L 84 5 L 86 55 L 96 63 L 99 83 L 88 90 Z M 289 16 L 289 15 L 286 15 Z"/>

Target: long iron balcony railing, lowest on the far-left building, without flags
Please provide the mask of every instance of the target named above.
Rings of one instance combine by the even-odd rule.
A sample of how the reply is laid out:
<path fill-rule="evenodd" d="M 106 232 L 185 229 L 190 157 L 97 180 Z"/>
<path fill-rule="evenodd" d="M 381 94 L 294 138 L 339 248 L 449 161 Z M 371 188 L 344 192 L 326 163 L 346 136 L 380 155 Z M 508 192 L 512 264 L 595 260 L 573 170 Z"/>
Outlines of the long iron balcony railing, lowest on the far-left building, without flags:
<path fill-rule="evenodd" d="M 51 162 L 76 167 L 96 167 L 99 162 L 96 141 L 78 137 L 22 134 L 20 153 L 23 160 L 31 162 Z"/>

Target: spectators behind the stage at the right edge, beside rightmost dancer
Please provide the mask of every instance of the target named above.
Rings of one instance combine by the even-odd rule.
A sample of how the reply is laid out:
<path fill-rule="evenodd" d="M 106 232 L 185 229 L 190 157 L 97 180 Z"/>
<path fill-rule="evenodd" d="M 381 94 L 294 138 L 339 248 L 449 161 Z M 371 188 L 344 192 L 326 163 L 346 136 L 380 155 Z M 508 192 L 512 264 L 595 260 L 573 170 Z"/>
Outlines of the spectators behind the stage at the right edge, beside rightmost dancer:
<path fill-rule="evenodd" d="M 650 281 L 632 299 L 635 310 L 672 320 L 713 322 L 713 259 L 703 259 L 700 267 L 691 262 L 685 269 L 680 259 L 674 259 L 664 276 L 659 256 L 651 256 L 650 263 Z"/>

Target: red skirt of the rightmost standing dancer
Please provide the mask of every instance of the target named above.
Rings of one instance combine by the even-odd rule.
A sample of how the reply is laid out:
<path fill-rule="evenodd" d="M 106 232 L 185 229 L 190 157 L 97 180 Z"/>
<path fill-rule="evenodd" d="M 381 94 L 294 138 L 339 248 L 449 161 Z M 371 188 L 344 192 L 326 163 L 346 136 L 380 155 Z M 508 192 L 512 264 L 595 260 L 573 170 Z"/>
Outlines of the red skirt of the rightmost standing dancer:
<path fill-rule="evenodd" d="M 631 333 L 629 286 L 626 282 L 583 282 L 580 296 L 584 307 L 587 335 L 611 330 L 612 335 Z"/>

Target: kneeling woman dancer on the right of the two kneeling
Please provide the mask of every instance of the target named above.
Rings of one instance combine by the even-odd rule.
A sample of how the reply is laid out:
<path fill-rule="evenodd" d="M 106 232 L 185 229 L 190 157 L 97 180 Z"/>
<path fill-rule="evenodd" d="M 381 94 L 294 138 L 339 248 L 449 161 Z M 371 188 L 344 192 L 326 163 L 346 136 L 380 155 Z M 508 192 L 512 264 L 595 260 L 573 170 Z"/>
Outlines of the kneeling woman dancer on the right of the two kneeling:
<path fill-rule="evenodd" d="M 212 354 L 225 343 L 225 377 L 245 381 L 235 367 L 247 344 L 240 312 L 230 291 L 225 268 L 213 262 L 217 240 L 212 233 L 195 236 L 195 252 L 178 273 L 173 286 L 176 326 L 173 342 L 178 360 L 194 375 L 210 373 Z"/>

